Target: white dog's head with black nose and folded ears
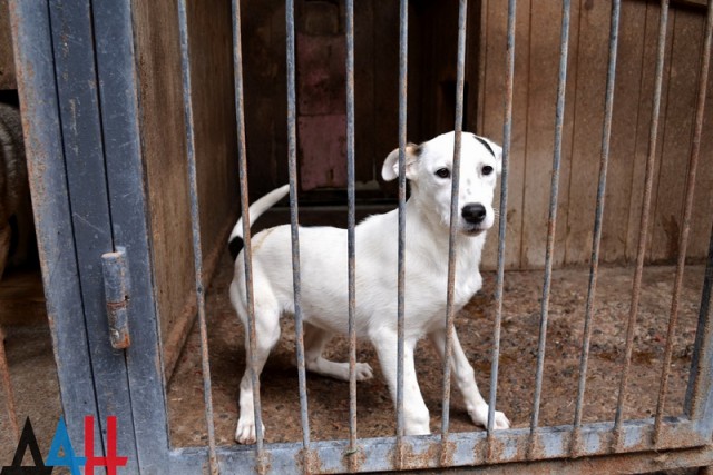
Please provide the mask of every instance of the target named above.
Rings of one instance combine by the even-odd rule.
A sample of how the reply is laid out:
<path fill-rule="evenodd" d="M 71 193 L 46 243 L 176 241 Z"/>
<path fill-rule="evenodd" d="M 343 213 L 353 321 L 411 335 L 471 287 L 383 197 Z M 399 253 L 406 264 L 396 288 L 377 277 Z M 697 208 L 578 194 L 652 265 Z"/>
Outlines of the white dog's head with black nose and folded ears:
<path fill-rule="evenodd" d="M 432 210 L 440 222 L 450 222 L 450 195 L 453 169 L 453 132 L 440 135 L 406 148 L 406 178 L 411 182 L 411 199 L 421 209 Z M 463 132 L 460 149 L 458 229 L 477 236 L 492 227 L 492 198 L 502 165 L 502 149 L 492 141 Z M 399 176 L 399 149 L 383 162 L 381 176 L 393 180 Z"/>

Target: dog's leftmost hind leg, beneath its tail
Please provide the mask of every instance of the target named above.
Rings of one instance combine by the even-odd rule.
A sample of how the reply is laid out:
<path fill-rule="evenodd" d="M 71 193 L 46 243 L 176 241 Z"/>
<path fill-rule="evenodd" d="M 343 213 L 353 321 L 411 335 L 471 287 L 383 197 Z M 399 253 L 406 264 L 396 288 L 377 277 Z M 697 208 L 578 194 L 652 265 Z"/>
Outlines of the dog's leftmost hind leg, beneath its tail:
<path fill-rule="evenodd" d="M 238 315 L 245 328 L 245 374 L 241 380 L 240 410 L 237 428 L 235 429 L 235 441 L 241 444 L 254 444 L 255 435 L 255 402 L 253 399 L 253 378 L 251 372 L 251 352 L 247 331 L 247 314 L 244 308 L 238 309 Z M 270 350 L 280 339 L 280 309 L 276 301 L 261 301 L 255 305 L 255 345 L 252 364 L 255 368 L 256 377 L 265 366 Z M 260 386 L 258 386 L 260 387 Z M 263 433 L 265 427 L 263 425 Z"/>

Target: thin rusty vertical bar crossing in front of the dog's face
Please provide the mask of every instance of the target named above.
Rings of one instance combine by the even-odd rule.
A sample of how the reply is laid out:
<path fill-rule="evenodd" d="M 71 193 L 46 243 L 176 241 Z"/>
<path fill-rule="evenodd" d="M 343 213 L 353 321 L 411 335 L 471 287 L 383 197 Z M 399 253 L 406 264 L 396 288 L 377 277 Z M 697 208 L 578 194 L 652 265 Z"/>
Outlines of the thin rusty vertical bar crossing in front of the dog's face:
<path fill-rule="evenodd" d="M 468 1 L 460 0 L 458 9 L 458 58 L 456 68 L 456 123 L 453 137 L 453 169 L 451 171 L 450 232 L 448 237 L 448 290 L 446 294 L 446 348 L 443 352 L 443 393 L 441 443 L 448 442 L 450 417 L 450 362 L 453 342 L 453 291 L 456 281 L 458 194 L 460 189 L 460 148 L 463 128 L 463 90 L 466 77 L 466 22 Z M 446 451 L 441 451 L 443 454 Z M 442 457 L 443 455 L 441 455 Z"/>

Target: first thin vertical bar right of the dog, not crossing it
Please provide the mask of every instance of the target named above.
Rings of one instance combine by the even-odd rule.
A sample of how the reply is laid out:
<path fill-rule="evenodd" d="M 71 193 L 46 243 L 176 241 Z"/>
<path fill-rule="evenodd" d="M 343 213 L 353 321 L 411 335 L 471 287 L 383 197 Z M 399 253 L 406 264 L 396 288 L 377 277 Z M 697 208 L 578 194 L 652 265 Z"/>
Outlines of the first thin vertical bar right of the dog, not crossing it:
<path fill-rule="evenodd" d="M 557 82 L 557 110 L 555 113 L 555 156 L 553 159 L 553 178 L 549 195 L 549 220 L 547 221 L 547 249 L 545 256 L 545 280 L 543 284 L 543 304 L 539 323 L 539 343 L 537 347 L 537 376 L 530 419 L 530 437 L 528 454 L 531 455 L 535 431 L 539 419 L 539 404 L 543 392 L 543 372 L 545 368 L 545 348 L 547 340 L 547 317 L 549 314 L 549 288 L 553 274 L 553 255 L 555 249 L 555 230 L 557 227 L 557 198 L 559 194 L 559 165 L 561 161 L 561 135 L 565 116 L 565 92 L 567 87 L 567 53 L 569 47 L 569 10 L 570 0 L 563 1 L 561 36 L 559 41 L 559 77 Z"/>

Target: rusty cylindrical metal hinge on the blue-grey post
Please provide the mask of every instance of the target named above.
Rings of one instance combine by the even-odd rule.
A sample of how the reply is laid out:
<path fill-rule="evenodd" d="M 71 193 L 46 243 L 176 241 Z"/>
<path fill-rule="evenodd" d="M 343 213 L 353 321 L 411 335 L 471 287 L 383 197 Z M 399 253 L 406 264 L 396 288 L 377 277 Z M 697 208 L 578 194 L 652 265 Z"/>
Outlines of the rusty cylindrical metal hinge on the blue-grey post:
<path fill-rule="evenodd" d="M 102 254 L 101 268 L 111 346 L 116 349 L 125 349 L 131 344 L 127 308 L 130 285 L 126 249 L 117 247 L 115 253 Z"/>

